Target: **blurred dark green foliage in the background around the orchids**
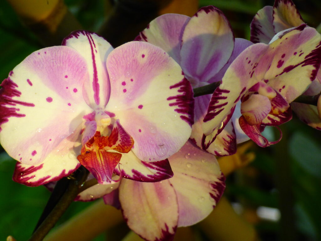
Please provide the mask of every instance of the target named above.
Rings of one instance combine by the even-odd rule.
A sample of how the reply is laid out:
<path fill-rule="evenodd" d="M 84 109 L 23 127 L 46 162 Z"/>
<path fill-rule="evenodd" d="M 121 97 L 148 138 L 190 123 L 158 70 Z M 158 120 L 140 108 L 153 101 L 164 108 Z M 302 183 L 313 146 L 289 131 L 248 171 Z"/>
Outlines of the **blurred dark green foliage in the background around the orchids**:
<path fill-rule="evenodd" d="M 66 0 L 65 3 L 85 29 L 97 31 L 104 22 L 103 0 Z M 263 6 L 273 5 L 273 1 L 200 0 L 199 4 L 220 8 L 231 22 L 235 37 L 249 39 L 253 16 Z M 295 4 L 305 22 L 312 27 L 319 25 L 321 1 L 295 1 Z M 0 36 L 0 78 L 3 80 L 13 67 L 42 46 L 6 1 L 0 2 Z M 227 178 L 225 195 L 236 210 L 256 226 L 261 240 L 285 240 L 284 235 L 288 232 L 292 232 L 296 240 L 321 240 L 320 132 L 295 116 L 282 125 L 282 131 L 284 138 L 277 145 L 253 148 L 255 161 Z M 14 183 L 14 165 L 15 161 L 1 148 L 0 240 L 13 235 L 21 241 L 30 237 L 50 193 L 42 186 L 30 188 Z M 288 213 L 287 204 L 294 207 L 293 213 Z M 73 203 L 59 223 L 88 205 L 90 203 Z M 285 230 L 280 219 L 272 221 L 258 217 L 256 210 L 262 206 L 281 210 L 282 218 L 293 217 L 295 229 Z M 102 234 L 94 240 L 109 239 Z M 204 240 L 207 240 L 205 236 Z"/>

